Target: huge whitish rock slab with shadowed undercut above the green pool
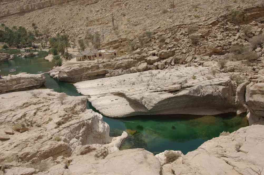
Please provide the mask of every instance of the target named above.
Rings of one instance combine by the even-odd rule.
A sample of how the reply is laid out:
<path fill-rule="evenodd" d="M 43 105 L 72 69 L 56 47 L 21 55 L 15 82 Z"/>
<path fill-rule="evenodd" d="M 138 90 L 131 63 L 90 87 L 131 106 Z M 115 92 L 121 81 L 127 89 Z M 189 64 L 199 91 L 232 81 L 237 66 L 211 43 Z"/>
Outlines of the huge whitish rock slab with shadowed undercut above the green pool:
<path fill-rule="evenodd" d="M 236 112 L 236 85 L 224 73 L 207 79 L 209 71 L 208 67 L 180 66 L 83 81 L 74 86 L 109 117 Z"/>

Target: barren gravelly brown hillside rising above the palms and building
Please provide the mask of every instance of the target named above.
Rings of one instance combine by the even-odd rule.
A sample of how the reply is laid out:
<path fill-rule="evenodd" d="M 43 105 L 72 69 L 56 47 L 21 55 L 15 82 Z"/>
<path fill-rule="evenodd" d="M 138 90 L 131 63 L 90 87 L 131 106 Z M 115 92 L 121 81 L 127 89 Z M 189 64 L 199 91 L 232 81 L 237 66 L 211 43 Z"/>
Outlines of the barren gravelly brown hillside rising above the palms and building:
<path fill-rule="evenodd" d="M 83 37 L 87 31 L 104 33 L 103 42 L 115 39 L 127 41 L 144 31 L 166 28 L 175 23 L 201 23 L 214 19 L 232 9 L 243 9 L 263 3 L 255 0 L 46 0 L 0 1 L 0 23 L 7 26 L 32 28 L 36 23 L 41 31 L 68 33 Z M 114 14 L 112 27 L 111 13 Z"/>

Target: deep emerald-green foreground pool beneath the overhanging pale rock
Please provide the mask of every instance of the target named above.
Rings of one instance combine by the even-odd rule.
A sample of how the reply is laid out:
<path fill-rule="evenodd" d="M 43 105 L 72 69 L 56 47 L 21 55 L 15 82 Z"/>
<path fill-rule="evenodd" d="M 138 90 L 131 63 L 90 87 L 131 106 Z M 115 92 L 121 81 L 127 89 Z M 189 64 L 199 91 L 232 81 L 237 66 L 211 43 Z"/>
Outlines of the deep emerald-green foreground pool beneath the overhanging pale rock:
<path fill-rule="evenodd" d="M 114 121 L 105 118 L 114 128 Z M 115 119 L 114 119 L 115 120 Z M 218 137 L 223 131 L 230 133 L 248 126 L 246 114 L 240 116 L 225 114 L 220 116 L 136 116 L 123 118 L 118 128 L 136 130 L 139 137 L 129 136 L 121 150 L 145 148 L 155 154 L 164 150 L 180 150 L 184 154 L 197 149 L 205 141 Z"/>

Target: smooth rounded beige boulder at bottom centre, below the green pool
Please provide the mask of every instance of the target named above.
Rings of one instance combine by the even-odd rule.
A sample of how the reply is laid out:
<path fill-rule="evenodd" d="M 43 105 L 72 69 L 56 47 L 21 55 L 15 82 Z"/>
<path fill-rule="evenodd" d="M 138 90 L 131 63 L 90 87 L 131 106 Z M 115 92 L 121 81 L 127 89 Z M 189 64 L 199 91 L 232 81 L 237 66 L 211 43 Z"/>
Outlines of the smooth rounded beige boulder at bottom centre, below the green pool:
<path fill-rule="evenodd" d="M 53 174 L 67 173 L 94 175 L 159 175 L 161 164 L 150 152 L 144 149 L 127 149 L 108 154 L 105 158 L 97 158 L 89 154 L 71 157 L 68 169 L 62 166 L 50 168 Z M 43 173 L 38 173 L 42 175 Z"/>

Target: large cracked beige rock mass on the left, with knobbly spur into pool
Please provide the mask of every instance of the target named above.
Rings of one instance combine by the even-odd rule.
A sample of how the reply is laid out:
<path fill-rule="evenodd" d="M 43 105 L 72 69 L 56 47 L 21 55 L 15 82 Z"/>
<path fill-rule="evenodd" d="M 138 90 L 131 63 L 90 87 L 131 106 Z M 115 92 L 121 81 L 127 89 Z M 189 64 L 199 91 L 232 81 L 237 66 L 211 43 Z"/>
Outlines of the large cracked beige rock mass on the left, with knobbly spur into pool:
<path fill-rule="evenodd" d="M 54 160 L 70 157 L 77 148 L 83 154 L 88 144 L 91 149 L 104 148 L 107 154 L 119 151 L 126 132 L 110 137 L 109 125 L 101 114 L 87 109 L 86 97 L 65 96 L 63 101 L 60 97 L 50 89 L 0 95 L 0 134 L 9 128 L 14 132 L 0 144 L 0 164 L 6 169 L 48 160 L 51 167 L 59 162 Z M 20 133 L 20 127 L 29 130 Z"/>

